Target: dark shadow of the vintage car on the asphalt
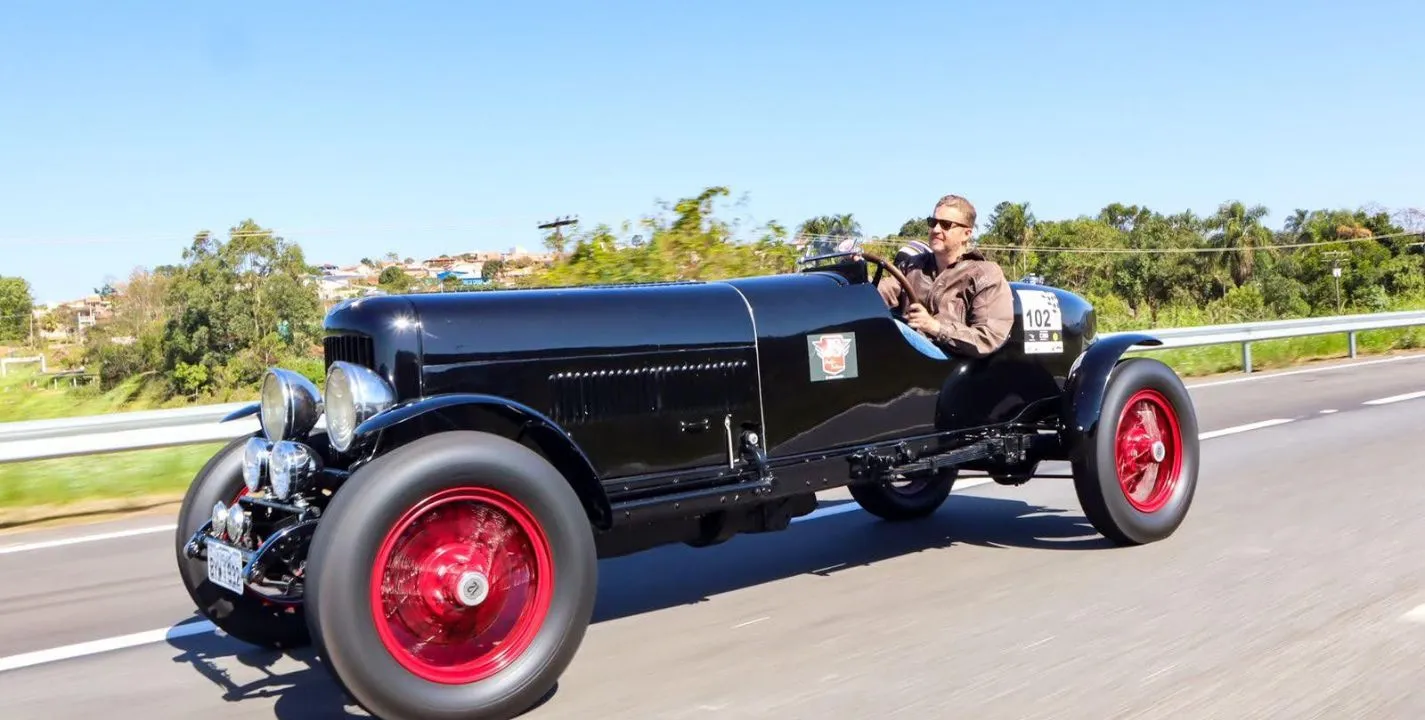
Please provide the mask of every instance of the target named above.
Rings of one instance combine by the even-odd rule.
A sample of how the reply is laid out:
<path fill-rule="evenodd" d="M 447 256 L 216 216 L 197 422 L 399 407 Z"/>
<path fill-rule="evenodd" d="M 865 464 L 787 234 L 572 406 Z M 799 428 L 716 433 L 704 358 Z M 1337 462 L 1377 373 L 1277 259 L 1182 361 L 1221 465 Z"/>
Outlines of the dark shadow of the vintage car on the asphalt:
<path fill-rule="evenodd" d="M 799 575 L 829 575 L 911 553 L 968 545 L 1036 550 L 1112 547 L 1077 515 L 1017 499 L 952 495 L 936 515 L 891 523 L 824 502 L 818 516 L 787 532 L 744 535 L 714 547 L 681 545 L 600 562 L 593 622 L 604 623 Z M 949 559 L 948 559 L 949 562 Z M 174 637 L 187 663 L 221 689 L 225 701 L 274 703 L 279 720 L 369 717 L 328 676 L 311 649 L 278 653 L 218 634 Z M 551 693 L 553 696 L 553 693 Z M 546 701 L 549 697 L 546 697 Z"/>

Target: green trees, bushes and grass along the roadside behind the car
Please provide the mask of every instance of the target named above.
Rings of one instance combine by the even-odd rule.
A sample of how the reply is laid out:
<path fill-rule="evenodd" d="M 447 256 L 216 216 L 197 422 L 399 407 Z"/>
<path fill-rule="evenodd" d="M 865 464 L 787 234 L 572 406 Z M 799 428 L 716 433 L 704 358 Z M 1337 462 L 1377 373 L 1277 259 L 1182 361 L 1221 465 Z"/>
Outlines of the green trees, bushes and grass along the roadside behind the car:
<path fill-rule="evenodd" d="M 546 245 L 557 259 L 519 277 L 487 264 L 489 287 L 788 272 L 801 244 L 814 238 L 859 237 L 893 254 L 906 241 L 925 240 L 922 218 L 933 204 L 912 204 L 901 227 L 876 234 L 852 214 L 809 218 L 795 230 L 777 222 L 744 228 L 717 208 L 728 195 L 728 188 L 710 187 L 618 228 L 551 232 Z M 1274 230 L 1263 224 L 1267 208 L 1237 201 L 1206 217 L 1124 204 L 1064 220 L 1039 220 L 1027 202 L 979 208 L 986 255 L 1012 278 L 1033 274 L 1084 295 L 1097 307 L 1102 331 L 1425 309 L 1425 212 L 1418 210 L 1295 210 Z M 34 315 L 28 284 L 0 278 L 0 358 L 43 354 L 51 374 L 83 368 L 88 375 L 88 382 L 68 382 L 13 366 L 0 378 L 0 422 L 251 399 L 269 365 L 319 382 L 328 309 L 312 282 L 319 274 L 301 245 L 255 221 L 234 225 L 225 240 L 204 231 L 182 262 L 135 269 L 118 287 L 97 288 L 111 314 L 70 346 L 33 338 L 73 317 Z M 388 262 L 373 289 L 456 288 L 415 281 Z M 1419 328 L 1358 336 L 1359 354 L 1419 346 Z M 1253 362 L 1270 369 L 1345 354 L 1345 336 L 1294 338 L 1254 345 Z M 1154 356 L 1184 375 L 1241 366 L 1238 346 Z M 178 493 L 212 449 L 0 465 L 0 526 L 13 522 L 6 513 L 37 505 Z"/>

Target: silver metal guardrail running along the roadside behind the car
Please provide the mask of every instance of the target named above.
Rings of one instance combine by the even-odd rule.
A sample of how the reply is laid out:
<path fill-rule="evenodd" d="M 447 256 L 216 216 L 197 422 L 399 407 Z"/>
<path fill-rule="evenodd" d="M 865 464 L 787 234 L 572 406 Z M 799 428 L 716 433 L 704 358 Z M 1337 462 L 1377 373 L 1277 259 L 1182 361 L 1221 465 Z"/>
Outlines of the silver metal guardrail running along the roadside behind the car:
<path fill-rule="evenodd" d="M 1357 355 L 1355 336 L 1371 329 L 1425 325 L 1425 311 L 1337 315 L 1327 318 L 1201 325 L 1191 328 L 1149 329 L 1163 341 L 1153 348 L 1136 346 L 1134 352 L 1173 348 L 1240 344 L 1243 369 L 1251 372 L 1251 344 L 1281 338 L 1347 334 L 1349 352 Z M 1117 335 L 1106 332 L 1104 336 Z M 258 431 L 256 418 L 219 423 L 245 402 L 200 405 L 170 411 L 117 412 L 83 418 L 0 423 L 0 463 L 103 455 L 108 452 L 172 448 L 207 442 L 227 442 Z"/>

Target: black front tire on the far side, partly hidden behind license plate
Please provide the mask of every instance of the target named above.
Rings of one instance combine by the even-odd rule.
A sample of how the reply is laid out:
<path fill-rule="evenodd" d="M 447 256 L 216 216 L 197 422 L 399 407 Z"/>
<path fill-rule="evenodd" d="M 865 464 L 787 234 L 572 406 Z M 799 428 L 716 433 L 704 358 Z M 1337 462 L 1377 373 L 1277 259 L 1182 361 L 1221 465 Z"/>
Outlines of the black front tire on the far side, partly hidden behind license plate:
<path fill-rule="evenodd" d="M 232 637 L 259 647 L 291 650 L 311 644 L 306 617 L 301 605 L 276 605 L 255 595 L 234 595 L 208 582 L 204 560 L 188 557 L 184 546 L 212 516 L 218 502 L 232 503 L 245 490 L 242 485 L 244 435 L 218 451 L 194 476 L 178 509 L 174 550 L 178 576 L 198 613 Z"/>

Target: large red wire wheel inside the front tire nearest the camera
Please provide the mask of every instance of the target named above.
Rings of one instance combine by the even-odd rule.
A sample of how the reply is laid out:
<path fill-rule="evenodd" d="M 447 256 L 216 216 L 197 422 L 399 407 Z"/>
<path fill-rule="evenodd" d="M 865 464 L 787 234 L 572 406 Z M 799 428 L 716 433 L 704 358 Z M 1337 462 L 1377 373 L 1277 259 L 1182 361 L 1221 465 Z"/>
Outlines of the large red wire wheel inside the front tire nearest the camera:
<path fill-rule="evenodd" d="M 459 488 L 406 512 L 376 550 L 376 634 L 410 673 L 476 683 L 534 640 L 554 595 L 550 542 L 506 493 Z"/>

